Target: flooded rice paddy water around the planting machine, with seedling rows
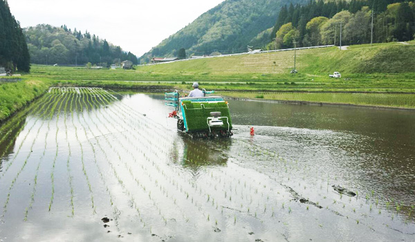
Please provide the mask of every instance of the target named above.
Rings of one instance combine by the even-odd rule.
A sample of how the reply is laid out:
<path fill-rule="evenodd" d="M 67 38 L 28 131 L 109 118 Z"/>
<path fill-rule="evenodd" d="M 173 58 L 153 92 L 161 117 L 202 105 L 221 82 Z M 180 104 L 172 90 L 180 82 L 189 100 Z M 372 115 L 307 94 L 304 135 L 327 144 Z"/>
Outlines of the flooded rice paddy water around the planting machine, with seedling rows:
<path fill-rule="evenodd" d="M 163 101 L 50 89 L 3 124 L 0 241 L 415 241 L 415 112 L 230 100 L 194 140 Z"/>

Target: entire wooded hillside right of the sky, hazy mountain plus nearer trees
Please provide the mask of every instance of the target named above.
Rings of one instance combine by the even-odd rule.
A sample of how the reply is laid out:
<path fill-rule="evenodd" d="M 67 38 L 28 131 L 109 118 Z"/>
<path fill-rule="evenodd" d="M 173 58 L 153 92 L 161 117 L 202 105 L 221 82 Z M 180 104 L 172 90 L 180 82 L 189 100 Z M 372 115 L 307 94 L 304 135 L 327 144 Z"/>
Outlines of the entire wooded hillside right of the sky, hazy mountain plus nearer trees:
<path fill-rule="evenodd" d="M 373 14 L 373 37 L 372 30 Z M 140 58 L 241 53 L 415 38 L 415 2 L 405 0 L 227 0 Z"/>

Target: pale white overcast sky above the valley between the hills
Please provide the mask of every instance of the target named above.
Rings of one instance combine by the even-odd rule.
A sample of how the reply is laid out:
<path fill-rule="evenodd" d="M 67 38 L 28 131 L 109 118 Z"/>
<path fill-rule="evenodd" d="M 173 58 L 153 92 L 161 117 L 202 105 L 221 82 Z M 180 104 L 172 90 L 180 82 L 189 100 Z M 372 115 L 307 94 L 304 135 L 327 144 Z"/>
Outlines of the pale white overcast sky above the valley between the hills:
<path fill-rule="evenodd" d="M 140 57 L 223 0 L 8 0 L 22 28 L 88 30 Z"/>

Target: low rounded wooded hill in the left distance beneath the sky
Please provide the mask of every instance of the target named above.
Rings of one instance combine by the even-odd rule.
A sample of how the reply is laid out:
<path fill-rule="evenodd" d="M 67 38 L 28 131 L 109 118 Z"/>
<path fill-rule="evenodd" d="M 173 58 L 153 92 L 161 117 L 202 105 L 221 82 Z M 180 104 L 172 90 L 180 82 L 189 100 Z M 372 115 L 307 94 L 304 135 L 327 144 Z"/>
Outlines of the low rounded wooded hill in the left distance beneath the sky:
<path fill-rule="evenodd" d="M 137 57 L 125 53 L 106 39 L 82 32 L 46 24 L 24 29 L 28 49 L 34 64 L 84 65 L 87 62 L 107 66 L 126 59 L 137 64 Z"/>

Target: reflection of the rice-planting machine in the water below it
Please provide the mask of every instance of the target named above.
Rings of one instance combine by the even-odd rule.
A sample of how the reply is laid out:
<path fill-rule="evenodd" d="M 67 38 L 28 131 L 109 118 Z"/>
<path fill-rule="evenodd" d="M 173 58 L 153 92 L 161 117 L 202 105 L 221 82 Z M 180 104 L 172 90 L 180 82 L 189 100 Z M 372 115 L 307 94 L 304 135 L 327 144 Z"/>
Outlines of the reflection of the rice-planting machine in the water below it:
<path fill-rule="evenodd" d="M 228 162 L 226 155 L 232 145 L 230 139 L 205 140 L 182 136 L 183 144 L 176 143 L 172 157 L 174 162 L 198 169 L 205 166 L 222 166 Z M 183 156 L 180 156 L 183 147 Z"/>

